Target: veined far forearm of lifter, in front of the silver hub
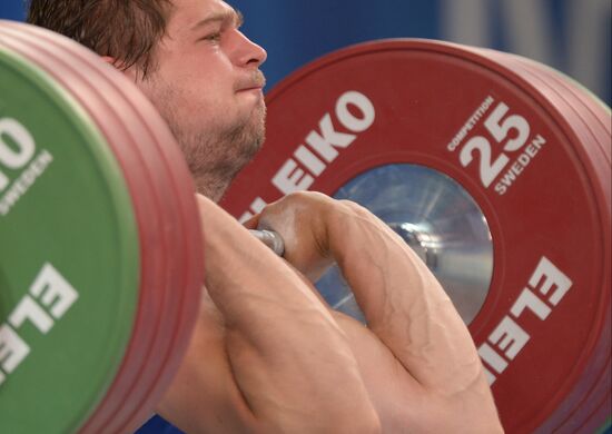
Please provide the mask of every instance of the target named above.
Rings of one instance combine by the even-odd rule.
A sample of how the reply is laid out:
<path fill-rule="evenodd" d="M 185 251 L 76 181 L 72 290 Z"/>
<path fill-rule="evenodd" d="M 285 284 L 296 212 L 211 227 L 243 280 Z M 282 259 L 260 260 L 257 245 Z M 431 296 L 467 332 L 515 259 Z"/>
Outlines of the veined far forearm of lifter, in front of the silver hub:
<path fill-rule="evenodd" d="M 368 326 L 423 385 L 482 383 L 472 338 L 448 296 L 414 251 L 383 221 L 349 203 L 327 217 L 328 248 Z M 456 391 L 452 391 L 456 392 Z"/>

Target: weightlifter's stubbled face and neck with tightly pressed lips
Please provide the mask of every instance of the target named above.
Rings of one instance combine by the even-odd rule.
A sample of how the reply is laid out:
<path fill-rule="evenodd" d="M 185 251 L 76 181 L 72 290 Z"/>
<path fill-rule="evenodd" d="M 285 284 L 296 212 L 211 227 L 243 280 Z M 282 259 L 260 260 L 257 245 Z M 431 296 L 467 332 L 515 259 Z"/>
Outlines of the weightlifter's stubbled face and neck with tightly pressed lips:
<path fill-rule="evenodd" d="M 174 0 L 158 68 L 138 86 L 175 134 L 198 190 L 218 200 L 264 141 L 266 51 L 221 0 Z"/>

